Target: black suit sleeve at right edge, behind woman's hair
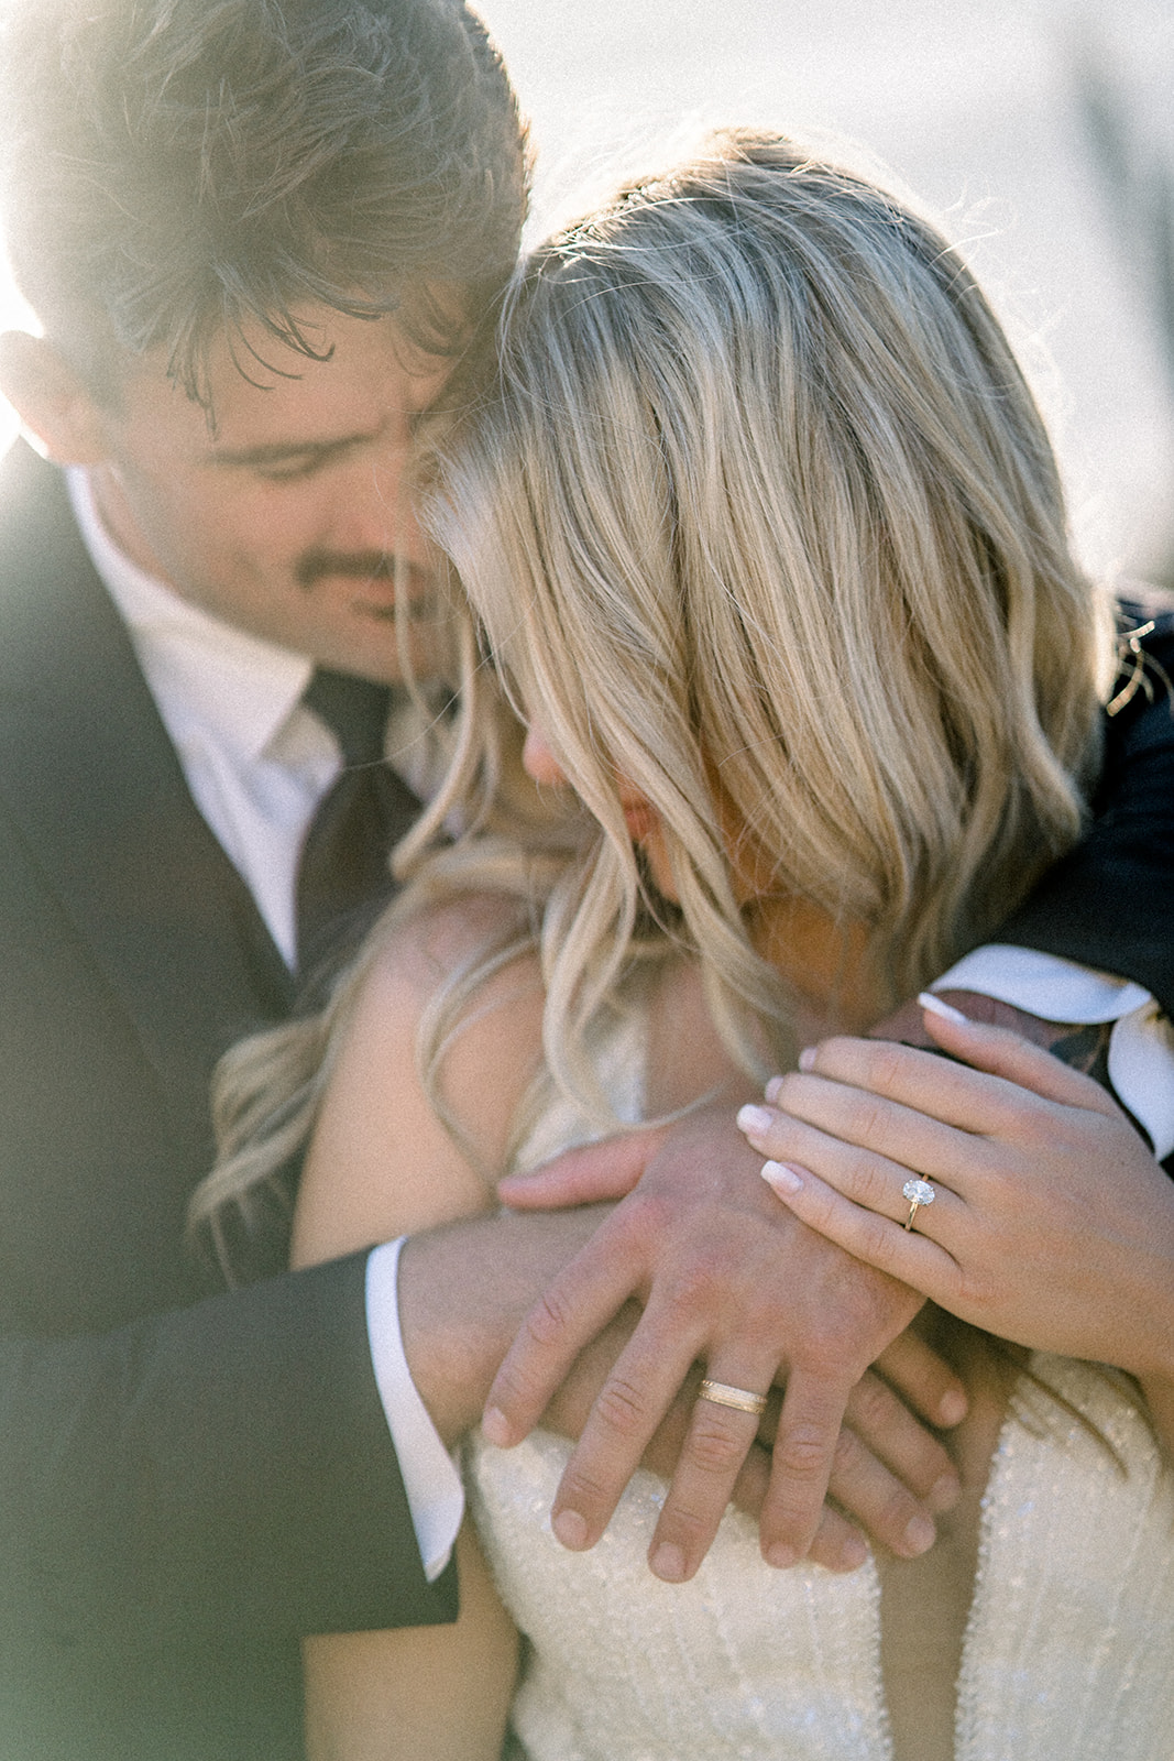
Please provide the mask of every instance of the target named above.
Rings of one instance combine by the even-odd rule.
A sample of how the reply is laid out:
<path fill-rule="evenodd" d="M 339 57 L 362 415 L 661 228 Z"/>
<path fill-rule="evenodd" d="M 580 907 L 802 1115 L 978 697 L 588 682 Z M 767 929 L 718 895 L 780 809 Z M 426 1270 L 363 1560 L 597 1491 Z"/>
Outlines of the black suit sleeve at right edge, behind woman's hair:
<path fill-rule="evenodd" d="M 996 939 L 1135 979 L 1174 1014 L 1174 616 L 1144 648 L 1144 680 L 1109 720 L 1088 836 Z"/>

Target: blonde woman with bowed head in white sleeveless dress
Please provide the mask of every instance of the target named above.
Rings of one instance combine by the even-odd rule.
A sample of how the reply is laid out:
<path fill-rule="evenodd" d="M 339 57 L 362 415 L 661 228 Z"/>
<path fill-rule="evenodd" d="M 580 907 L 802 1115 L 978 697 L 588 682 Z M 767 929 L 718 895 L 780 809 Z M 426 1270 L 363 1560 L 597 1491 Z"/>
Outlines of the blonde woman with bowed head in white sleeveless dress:
<path fill-rule="evenodd" d="M 301 1104 L 299 1263 L 878 1018 L 1077 836 L 1097 761 L 1112 662 L 1047 440 L 966 269 L 891 197 L 718 137 L 540 250 L 498 350 L 431 523 L 530 775 L 586 812 L 470 835 L 377 932 Z M 463 715 L 488 722 L 484 673 Z M 1174 1488 L 1137 1388 L 945 1342 L 972 1391 L 954 1534 L 848 1578 L 771 1571 L 729 1514 L 692 1583 L 653 1580 L 648 1474 L 567 1553 L 561 1440 L 473 1440 L 525 1754 L 1165 1754 Z M 452 1632 L 312 1641 L 315 1756 L 496 1754 L 512 1631 L 461 1546 Z"/>

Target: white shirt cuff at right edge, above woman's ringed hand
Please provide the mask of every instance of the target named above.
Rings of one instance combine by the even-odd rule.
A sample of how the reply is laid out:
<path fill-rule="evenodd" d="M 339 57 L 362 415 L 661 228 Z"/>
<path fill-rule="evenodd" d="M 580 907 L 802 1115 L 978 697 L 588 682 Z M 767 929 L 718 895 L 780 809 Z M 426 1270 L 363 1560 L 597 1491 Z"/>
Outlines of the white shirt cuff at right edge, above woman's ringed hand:
<path fill-rule="evenodd" d="M 1141 984 L 1033 947 L 989 942 L 929 988 L 979 991 L 1042 1021 L 1114 1021 L 1109 1079 L 1149 1132 L 1158 1160 L 1174 1150 L 1174 1028 Z"/>

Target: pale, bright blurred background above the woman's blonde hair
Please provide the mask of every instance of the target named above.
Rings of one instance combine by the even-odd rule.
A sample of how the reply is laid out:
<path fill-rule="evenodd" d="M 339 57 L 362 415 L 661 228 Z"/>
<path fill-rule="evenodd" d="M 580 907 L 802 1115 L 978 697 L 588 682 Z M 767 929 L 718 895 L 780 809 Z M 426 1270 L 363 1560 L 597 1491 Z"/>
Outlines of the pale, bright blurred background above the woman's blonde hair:
<path fill-rule="evenodd" d="M 475 4 L 533 123 L 537 231 L 683 125 L 861 143 L 1009 324 L 1084 560 L 1174 579 L 1174 0 Z"/>

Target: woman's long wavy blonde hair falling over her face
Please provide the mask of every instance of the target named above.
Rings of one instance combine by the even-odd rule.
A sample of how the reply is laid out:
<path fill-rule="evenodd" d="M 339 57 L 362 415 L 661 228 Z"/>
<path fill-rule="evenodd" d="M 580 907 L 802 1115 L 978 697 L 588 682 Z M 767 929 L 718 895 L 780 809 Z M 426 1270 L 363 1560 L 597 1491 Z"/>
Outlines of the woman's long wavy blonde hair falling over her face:
<path fill-rule="evenodd" d="M 512 866 L 472 833 L 400 912 L 482 879 L 514 893 L 547 1069 L 595 1113 L 590 1028 L 649 947 L 699 960 L 743 1069 L 789 1051 L 730 828 L 771 893 L 855 932 L 882 1004 L 1077 838 L 1107 609 L 998 322 L 894 197 L 789 139 L 716 134 L 530 257 L 461 403 L 424 516 L 593 819 L 537 863 L 514 840 Z M 465 655 L 445 810 L 477 777 L 484 826 L 500 711 L 468 636 Z M 618 778 L 662 819 L 672 909 L 649 898 Z"/>

